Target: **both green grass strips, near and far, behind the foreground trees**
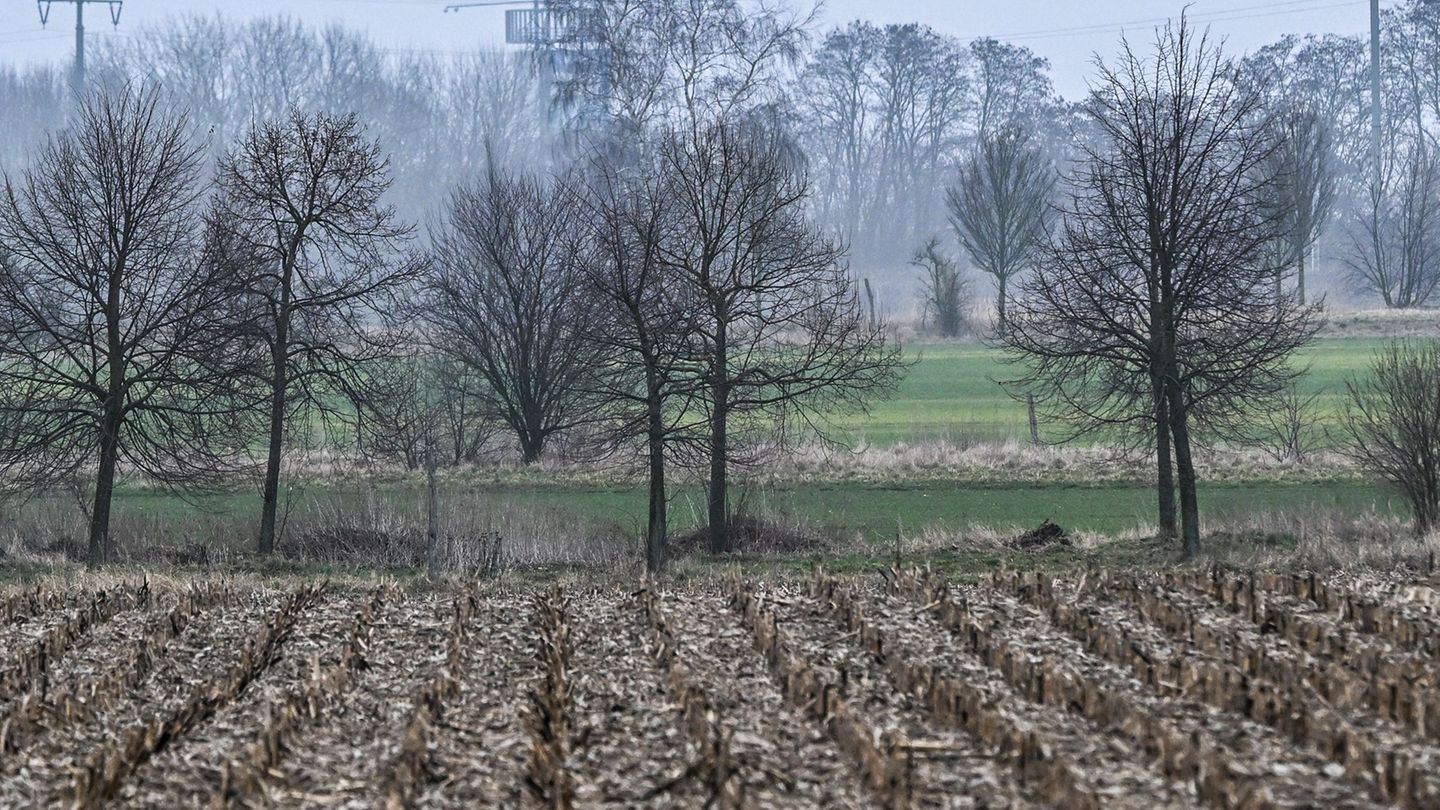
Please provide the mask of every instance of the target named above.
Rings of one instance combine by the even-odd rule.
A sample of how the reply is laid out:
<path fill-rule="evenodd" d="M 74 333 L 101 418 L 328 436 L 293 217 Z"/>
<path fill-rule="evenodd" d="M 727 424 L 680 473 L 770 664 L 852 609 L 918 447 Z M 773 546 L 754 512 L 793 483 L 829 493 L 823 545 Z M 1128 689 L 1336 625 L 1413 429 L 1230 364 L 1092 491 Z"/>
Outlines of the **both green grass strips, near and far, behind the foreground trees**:
<path fill-rule="evenodd" d="M 1316 408 L 1326 421 L 1333 424 L 1344 406 L 1345 379 L 1364 373 L 1372 353 L 1384 344 L 1382 339 L 1328 339 L 1299 357 L 1297 362 L 1308 368 L 1303 389 L 1320 395 Z M 978 343 L 917 343 L 907 352 L 914 363 L 897 395 L 876 405 L 870 415 L 847 415 L 840 421 L 855 441 L 893 445 L 940 438 L 969 444 L 1027 437 L 1024 406 L 1009 399 L 996 382 L 1021 369 L 1005 365 L 998 350 Z M 645 519 L 644 487 L 608 474 L 596 480 L 602 483 L 585 483 L 583 477 L 547 481 L 528 473 L 459 474 L 445 484 L 441 504 L 442 512 L 462 516 L 471 526 L 490 526 L 507 535 L 530 533 L 536 539 L 576 533 L 639 536 Z M 675 476 L 671 496 L 672 530 L 681 535 L 701 526 L 704 496 L 698 483 Z M 1210 483 L 1201 487 L 1200 496 L 1207 528 L 1238 525 L 1264 515 L 1302 525 L 1323 516 L 1404 517 L 1408 512 L 1394 493 L 1346 476 L 1318 483 Z M 776 484 L 772 480 L 765 486 L 746 483 L 739 476 L 732 490 L 732 507 L 809 532 L 873 543 L 893 540 L 897 530 L 919 536 L 963 533 L 985 526 L 1007 533 L 1045 519 L 1071 530 L 1117 535 L 1152 525 L 1153 499 L 1143 473 L 1136 481 L 1122 477 L 1092 484 L 1071 477 L 1037 484 L 1007 480 L 1004 470 L 978 481 L 900 474 L 887 479 L 886 484 L 827 480 L 822 470 L 804 481 Z M 416 477 L 364 483 L 341 476 L 295 481 L 289 509 L 292 530 L 302 530 L 307 522 L 333 520 L 337 515 L 415 526 L 423 515 L 423 503 Z M 181 500 L 125 487 L 115 504 L 115 535 L 131 543 L 200 542 L 246 548 L 258 507 L 253 491 Z M 84 535 L 72 496 L 39 499 L 22 512 L 23 516 L 16 516 L 22 533 Z M 24 529 L 26 525 L 30 529 Z"/>

